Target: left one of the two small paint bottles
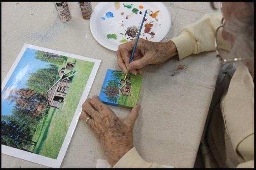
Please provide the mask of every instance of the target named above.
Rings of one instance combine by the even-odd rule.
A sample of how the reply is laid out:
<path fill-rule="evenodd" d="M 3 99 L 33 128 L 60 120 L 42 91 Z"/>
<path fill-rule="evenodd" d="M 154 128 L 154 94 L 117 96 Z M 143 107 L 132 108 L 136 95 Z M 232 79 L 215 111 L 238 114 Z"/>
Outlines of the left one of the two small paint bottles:
<path fill-rule="evenodd" d="M 59 14 L 61 22 L 69 22 L 71 14 L 69 11 L 69 5 L 67 2 L 54 2 L 56 10 Z"/>

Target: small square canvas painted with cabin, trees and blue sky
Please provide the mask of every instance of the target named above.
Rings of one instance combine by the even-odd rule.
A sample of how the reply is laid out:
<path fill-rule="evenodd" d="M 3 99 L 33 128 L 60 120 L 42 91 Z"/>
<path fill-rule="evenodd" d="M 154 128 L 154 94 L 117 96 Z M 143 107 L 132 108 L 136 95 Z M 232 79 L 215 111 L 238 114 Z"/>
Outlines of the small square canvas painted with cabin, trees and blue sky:
<path fill-rule="evenodd" d="M 141 89 L 142 75 L 108 69 L 100 91 L 100 100 L 108 105 L 133 108 L 137 104 Z"/>

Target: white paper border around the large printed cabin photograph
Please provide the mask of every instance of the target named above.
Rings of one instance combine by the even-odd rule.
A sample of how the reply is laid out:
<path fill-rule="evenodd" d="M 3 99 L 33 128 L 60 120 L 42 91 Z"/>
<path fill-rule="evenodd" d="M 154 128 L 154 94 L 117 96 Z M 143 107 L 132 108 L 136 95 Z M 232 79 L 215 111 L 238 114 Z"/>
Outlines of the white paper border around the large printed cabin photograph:
<path fill-rule="evenodd" d="M 27 152 L 27 151 L 24 151 L 24 150 L 19 150 L 17 148 L 12 148 L 12 147 L 1 144 L 2 154 L 6 154 L 6 155 L 9 155 L 9 156 L 13 156 L 13 157 L 18 157 L 20 159 L 24 159 L 24 160 L 27 160 L 27 161 L 31 161 L 33 163 L 38 163 L 38 164 L 41 164 L 41 165 L 49 166 L 49 167 L 52 167 L 52 168 L 59 168 L 60 165 L 61 165 L 61 162 L 63 161 L 63 158 L 65 156 L 67 148 L 69 146 L 71 137 L 72 137 L 72 135 L 74 133 L 74 130 L 76 128 L 76 124 L 79 120 L 79 116 L 80 116 L 80 113 L 82 111 L 82 104 L 83 104 L 83 102 L 85 101 L 85 99 L 87 98 L 87 96 L 89 94 L 89 91 L 90 91 L 91 86 L 93 84 L 93 81 L 95 79 L 96 73 L 97 73 L 98 68 L 100 66 L 101 60 L 88 58 L 88 57 L 83 57 L 83 56 L 78 56 L 78 55 L 70 54 L 70 53 L 67 53 L 67 52 L 56 51 L 56 50 L 47 49 L 47 48 L 43 48 L 43 47 L 38 47 L 38 46 L 35 46 L 35 45 L 30 45 L 30 44 L 25 43 L 23 45 L 18 57 L 14 61 L 13 65 L 11 66 L 11 69 L 7 73 L 6 78 L 4 78 L 4 81 L 2 82 L 2 90 L 6 86 L 7 81 L 9 80 L 9 78 L 11 77 L 11 74 L 13 73 L 14 69 L 18 65 L 22 55 L 26 51 L 26 48 L 36 49 L 36 50 L 40 50 L 40 51 L 47 51 L 47 52 L 67 56 L 67 57 L 70 57 L 70 58 L 77 58 L 77 59 L 80 59 L 80 60 L 91 61 L 91 62 L 95 63 L 94 66 L 93 66 L 93 69 L 91 71 L 91 74 L 89 76 L 89 79 L 87 80 L 87 84 L 85 86 L 85 89 L 83 90 L 82 97 L 81 97 L 81 99 L 78 103 L 78 107 L 76 108 L 76 112 L 75 112 L 75 114 L 73 116 L 73 119 L 70 123 L 68 132 L 67 132 L 66 137 L 63 141 L 63 144 L 61 146 L 61 149 L 59 151 L 57 159 L 52 159 L 52 158 L 41 156 L 41 155 L 38 155 L 38 154 L 33 154 L 31 152 Z"/>

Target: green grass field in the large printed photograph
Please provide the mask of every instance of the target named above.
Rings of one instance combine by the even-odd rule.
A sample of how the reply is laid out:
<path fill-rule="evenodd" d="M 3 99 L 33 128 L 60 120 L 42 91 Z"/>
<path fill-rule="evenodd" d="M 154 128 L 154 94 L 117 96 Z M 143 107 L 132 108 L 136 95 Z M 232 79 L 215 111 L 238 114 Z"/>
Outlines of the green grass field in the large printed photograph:
<path fill-rule="evenodd" d="M 93 65 L 92 62 L 77 60 L 74 69 L 78 74 L 74 75 L 63 103 L 55 112 L 49 112 L 43 127 L 35 133 L 34 137 L 38 138 L 38 143 L 34 153 L 57 158 Z"/>

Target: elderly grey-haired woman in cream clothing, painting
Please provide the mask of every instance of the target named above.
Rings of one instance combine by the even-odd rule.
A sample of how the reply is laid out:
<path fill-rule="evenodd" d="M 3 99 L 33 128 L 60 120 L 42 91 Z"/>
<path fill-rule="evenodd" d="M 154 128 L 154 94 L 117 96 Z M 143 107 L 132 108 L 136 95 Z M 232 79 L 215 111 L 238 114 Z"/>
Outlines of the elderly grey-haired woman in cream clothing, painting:
<path fill-rule="evenodd" d="M 118 65 L 124 73 L 138 74 L 145 65 L 163 63 L 175 55 L 182 60 L 215 49 L 223 63 L 238 61 L 234 74 L 225 73 L 232 78 L 222 79 L 226 89 L 213 105 L 201 147 L 206 167 L 254 167 L 254 2 L 223 2 L 221 11 L 205 14 L 169 42 L 139 39 L 131 63 L 135 40 L 120 45 Z M 230 50 L 230 55 L 221 49 Z M 126 118 L 118 118 L 98 96 L 86 99 L 82 108 L 80 118 L 94 130 L 112 167 L 162 167 L 145 161 L 133 146 L 139 105 Z"/>

